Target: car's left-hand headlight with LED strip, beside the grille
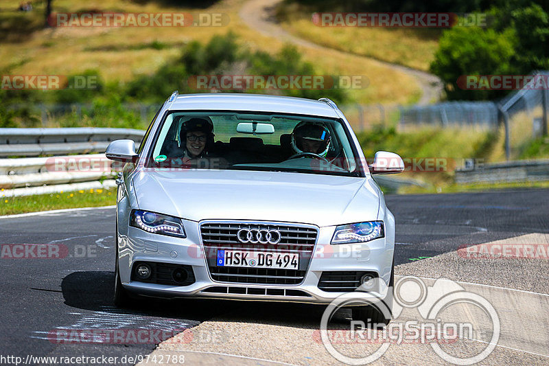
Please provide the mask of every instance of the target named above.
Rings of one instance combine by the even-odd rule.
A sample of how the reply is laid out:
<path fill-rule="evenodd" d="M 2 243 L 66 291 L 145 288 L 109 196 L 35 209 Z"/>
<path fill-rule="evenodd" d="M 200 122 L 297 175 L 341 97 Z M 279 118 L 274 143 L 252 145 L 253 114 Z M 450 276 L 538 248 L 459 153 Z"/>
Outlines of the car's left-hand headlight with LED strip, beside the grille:
<path fill-rule="evenodd" d="M 185 229 L 183 229 L 183 222 L 181 222 L 180 218 L 143 211 L 142 209 L 132 211 L 130 226 L 137 227 L 148 233 L 187 238 Z"/>

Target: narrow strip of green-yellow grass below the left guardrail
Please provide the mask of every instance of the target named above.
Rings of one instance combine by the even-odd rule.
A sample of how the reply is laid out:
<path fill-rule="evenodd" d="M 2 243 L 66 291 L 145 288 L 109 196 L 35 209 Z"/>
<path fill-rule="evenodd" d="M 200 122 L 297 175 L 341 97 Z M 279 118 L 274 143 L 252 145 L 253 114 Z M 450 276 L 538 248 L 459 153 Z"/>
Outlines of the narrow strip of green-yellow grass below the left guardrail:
<path fill-rule="evenodd" d="M 114 188 L 110 190 L 81 190 L 22 197 L 2 197 L 3 191 L 0 191 L 0 215 L 75 207 L 100 207 L 116 204 L 116 189 Z"/>

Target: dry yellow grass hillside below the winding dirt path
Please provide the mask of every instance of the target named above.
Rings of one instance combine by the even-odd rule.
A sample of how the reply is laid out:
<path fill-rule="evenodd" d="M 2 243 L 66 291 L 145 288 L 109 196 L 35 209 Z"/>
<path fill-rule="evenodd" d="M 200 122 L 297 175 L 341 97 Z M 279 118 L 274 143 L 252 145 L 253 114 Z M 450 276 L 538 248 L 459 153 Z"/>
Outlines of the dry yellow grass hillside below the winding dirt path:
<path fill-rule="evenodd" d="M 277 54 L 284 41 L 264 36 L 250 29 L 241 19 L 239 10 L 244 0 L 222 0 L 200 12 L 222 13 L 231 19 L 223 27 L 93 27 L 49 28 L 43 23 L 43 3 L 36 3 L 32 12 L 16 9 L 20 1 L 6 0 L 0 6 L 0 23 L 8 24 L 0 36 L 0 70 L 13 75 L 81 75 L 87 70 L 100 71 L 105 84 L 124 85 L 137 76 L 150 76 L 166 62 L 177 59 L 191 41 L 207 43 L 213 36 L 233 32 L 251 51 L 262 50 Z M 89 0 L 84 5 L 69 1 L 53 2 L 54 12 L 78 12 L 95 9 L 104 12 L 196 12 L 191 4 L 175 1 Z M 15 19 L 15 20 L 14 20 Z M 11 27 L 17 24 L 18 27 Z M 26 24 L 33 25 L 25 27 Z M 9 39 L 10 41 L 5 41 Z M 409 104 L 421 95 L 417 81 L 401 71 L 378 62 L 334 50 L 299 47 L 303 60 L 313 62 L 319 75 L 368 77 L 367 87 L 351 89 L 351 100 L 361 104 Z M 234 73 L 235 70 L 227 70 Z M 176 80 L 174 80 L 175 84 Z M 176 88 L 173 88 L 176 89 Z M 48 93 L 56 93 L 51 91 Z M 82 91 L 83 93 L 83 91 Z M 168 95 L 165 96 L 167 98 Z M 86 98 L 87 100 L 91 98 Z"/>

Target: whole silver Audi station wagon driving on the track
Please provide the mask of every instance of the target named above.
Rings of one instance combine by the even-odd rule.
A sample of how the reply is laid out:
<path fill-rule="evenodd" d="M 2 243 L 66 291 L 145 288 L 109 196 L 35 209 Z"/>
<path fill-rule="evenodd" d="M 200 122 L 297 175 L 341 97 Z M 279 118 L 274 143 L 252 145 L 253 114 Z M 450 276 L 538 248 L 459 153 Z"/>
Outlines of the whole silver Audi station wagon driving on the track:
<path fill-rule="evenodd" d="M 392 304 L 395 219 L 328 99 L 174 92 L 135 150 L 110 143 L 117 183 L 115 304 L 136 295 Z M 353 318 L 388 321 L 375 306 Z"/>

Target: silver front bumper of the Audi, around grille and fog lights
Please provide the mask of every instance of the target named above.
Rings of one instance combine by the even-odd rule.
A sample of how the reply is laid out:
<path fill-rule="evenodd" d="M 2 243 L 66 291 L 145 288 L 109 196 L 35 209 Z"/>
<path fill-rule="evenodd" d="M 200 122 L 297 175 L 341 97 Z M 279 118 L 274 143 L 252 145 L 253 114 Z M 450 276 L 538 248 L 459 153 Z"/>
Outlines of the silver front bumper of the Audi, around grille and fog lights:
<path fill-rule="evenodd" d="M 148 233 L 135 227 L 124 227 L 117 233 L 119 272 L 122 286 L 132 293 L 151 297 L 195 297 L 255 301 L 292 301 L 329 304 L 337 297 L 377 301 L 388 295 L 393 269 L 394 227 L 386 227 L 386 237 L 360 244 L 327 244 L 333 227 L 320 227 L 303 282 L 295 285 L 243 284 L 212 279 L 202 250 L 198 222 L 183 220 L 187 238 L 172 238 Z M 393 229 L 393 235 L 390 234 Z M 389 231 L 389 232 L 388 232 Z M 157 262 L 191 266 L 195 281 L 188 286 L 167 286 L 131 279 L 135 262 Z M 318 288 L 324 271 L 372 272 L 379 285 L 371 292 L 328 292 Z"/>

